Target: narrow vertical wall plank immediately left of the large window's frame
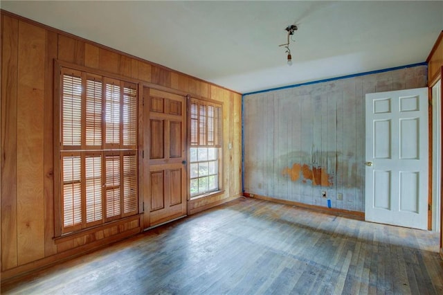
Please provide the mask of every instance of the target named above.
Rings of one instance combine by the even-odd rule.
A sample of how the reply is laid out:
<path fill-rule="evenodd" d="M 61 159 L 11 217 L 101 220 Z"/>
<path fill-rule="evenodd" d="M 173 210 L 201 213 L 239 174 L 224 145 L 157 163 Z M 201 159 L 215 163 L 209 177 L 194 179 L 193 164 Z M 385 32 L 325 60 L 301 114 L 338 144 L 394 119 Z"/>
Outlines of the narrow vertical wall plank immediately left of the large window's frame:
<path fill-rule="evenodd" d="M 57 58 L 57 33 L 46 30 L 46 61 L 44 80 L 44 253 L 57 253 L 54 243 L 54 149 L 53 149 L 53 96 L 54 59 Z M 57 76 L 55 77 L 57 78 Z M 55 98 L 59 99 L 59 98 Z"/>

